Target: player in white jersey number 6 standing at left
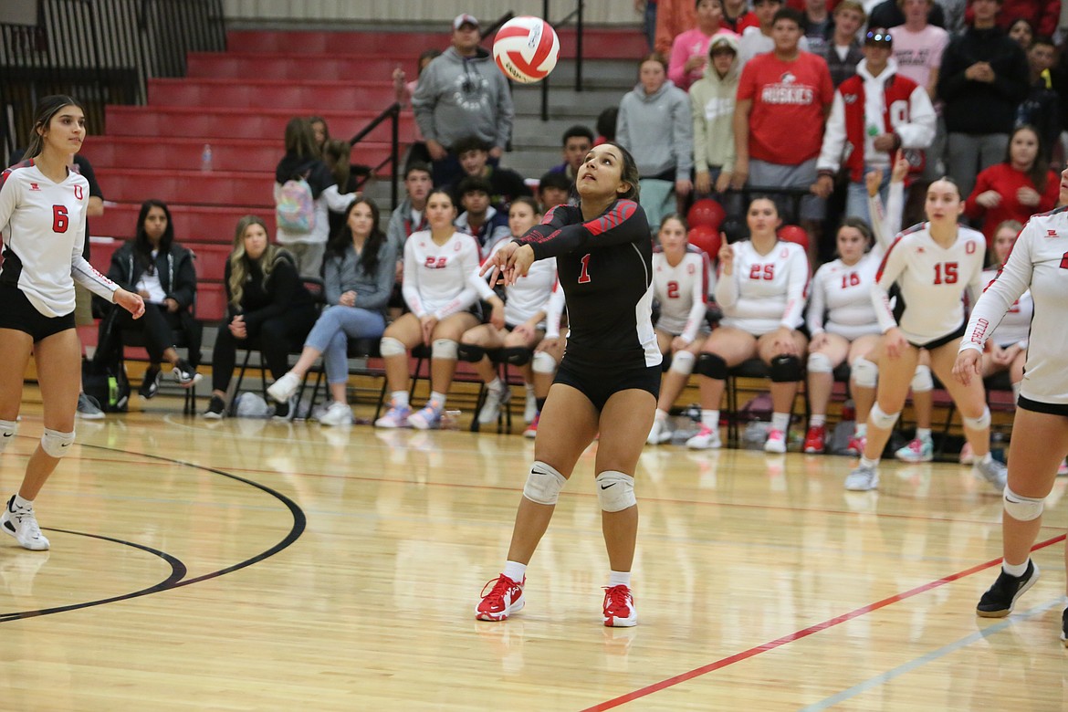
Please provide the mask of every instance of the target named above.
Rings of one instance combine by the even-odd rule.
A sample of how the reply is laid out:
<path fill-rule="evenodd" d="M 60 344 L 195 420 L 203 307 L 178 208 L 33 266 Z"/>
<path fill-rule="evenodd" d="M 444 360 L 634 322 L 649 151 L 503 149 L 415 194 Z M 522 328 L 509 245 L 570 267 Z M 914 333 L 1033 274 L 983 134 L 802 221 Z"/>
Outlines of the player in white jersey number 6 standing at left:
<path fill-rule="evenodd" d="M 74 284 L 135 318 L 144 314 L 140 296 L 119 288 L 81 256 L 89 181 L 68 165 L 84 139 L 81 106 L 69 96 L 47 96 L 35 110 L 27 160 L 0 175 L 0 452 L 15 436 L 31 353 L 44 402 L 44 434 L 18 493 L 3 507 L 0 528 L 31 550 L 49 547 L 33 501 L 74 443 L 81 387 Z"/>

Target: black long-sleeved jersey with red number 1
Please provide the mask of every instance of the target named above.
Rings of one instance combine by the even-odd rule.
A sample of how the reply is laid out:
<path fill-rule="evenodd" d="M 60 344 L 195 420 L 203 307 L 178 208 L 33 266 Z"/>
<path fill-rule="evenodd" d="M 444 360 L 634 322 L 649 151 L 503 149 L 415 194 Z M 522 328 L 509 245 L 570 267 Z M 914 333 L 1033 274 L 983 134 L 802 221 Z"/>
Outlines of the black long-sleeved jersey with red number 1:
<path fill-rule="evenodd" d="M 565 359 L 579 366 L 659 365 L 653 329 L 653 240 L 645 211 L 617 200 L 585 221 L 576 206 L 559 205 L 516 240 L 535 259 L 556 258 L 567 301 Z"/>

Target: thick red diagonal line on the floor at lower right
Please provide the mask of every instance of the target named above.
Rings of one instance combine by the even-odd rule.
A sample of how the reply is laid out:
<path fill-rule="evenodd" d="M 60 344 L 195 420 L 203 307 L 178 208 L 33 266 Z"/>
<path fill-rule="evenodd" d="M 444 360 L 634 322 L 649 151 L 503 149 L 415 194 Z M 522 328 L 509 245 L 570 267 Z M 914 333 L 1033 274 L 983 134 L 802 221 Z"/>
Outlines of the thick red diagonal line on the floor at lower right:
<path fill-rule="evenodd" d="M 1031 550 L 1032 551 L 1038 551 L 1039 549 L 1045 549 L 1046 547 L 1050 547 L 1052 544 L 1055 544 L 1058 541 L 1064 541 L 1066 536 L 1068 536 L 1068 535 L 1061 534 L 1058 536 L 1053 537 L 1052 539 L 1047 539 L 1046 541 L 1041 541 L 1041 542 L 1035 544 L 1034 547 L 1032 547 Z M 970 576 L 973 573 L 976 573 L 978 571 L 983 571 L 984 569 L 989 569 L 992 566 L 1001 564 L 1001 560 L 1002 560 L 1001 558 L 995 558 L 995 559 L 993 559 L 991 561 L 987 561 L 986 564 L 978 564 L 976 566 L 973 566 L 970 569 L 964 569 L 963 571 L 960 571 L 958 573 L 953 573 L 953 574 L 951 574 L 948 576 L 944 576 L 942 579 L 938 579 L 937 581 L 932 581 L 932 582 L 924 584 L 922 586 L 917 586 L 916 588 L 913 588 L 911 590 L 907 590 L 904 594 L 895 594 L 894 596 L 891 596 L 889 598 L 884 598 L 883 600 L 877 601 L 876 603 L 871 603 L 869 605 L 862 606 L 860 608 L 857 608 L 855 611 L 850 611 L 849 613 L 843 614 L 841 616 L 835 616 L 834 618 L 829 618 L 829 619 L 827 619 L 827 620 L 824 620 L 822 622 L 816 623 L 815 626 L 810 626 L 808 628 L 805 628 L 805 629 L 802 629 L 800 631 L 797 631 L 796 633 L 789 633 L 787 635 L 784 635 L 781 638 L 776 638 L 774 640 L 771 640 L 770 643 L 765 643 L 763 645 L 758 645 L 758 646 L 756 646 L 754 648 L 750 648 L 749 650 L 743 650 L 741 652 L 735 653 L 735 654 L 729 655 L 727 658 L 722 658 L 722 659 L 720 659 L 720 660 L 718 660 L 718 661 L 716 661 L 713 663 L 709 663 L 707 665 L 702 665 L 701 667 L 694 668 L 694 669 L 692 669 L 692 670 L 690 670 L 688 673 L 682 673 L 681 675 L 676 675 L 673 678 L 668 678 L 666 680 L 661 680 L 660 682 L 654 682 L 653 684 L 646 685 L 645 687 L 642 687 L 641 690 L 635 690 L 633 692 L 627 693 L 626 695 L 621 695 L 619 697 L 616 697 L 614 699 L 610 699 L 610 700 L 607 700 L 604 702 L 600 702 L 598 705 L 594 705 L 593 707 L 590 707 L 590 708 L 586 708 L 585 710 L 583 710 L 583 712 L 599 712 L 600 710 L 611 710 L 613 708 L 619 707 L 621 705 L 626 705 L 627 702 L 632 702 L 635 699 L 641 699 L 642 697 L 647 697 L 647 696 L 651 695 L 653 693 L 660 692 L 661 690 L 666 690 L 668 687 L 673 687 L 673 686 L 675 686 L 675 685 L 677 685 L 677 684 L 679 684 L 681 682 L 687 682 L 688 680 L 692 680 L 694 678 L 701 677 L 702 675 L 707 675 L 708 673 L 712 673 L 714 670 L 721 669 L 723 667 L 726 667 L 727 665 L 733 665 L 733 664 L 739 663 L 739 662 L 741 662 L 743 660 L 748 660 L 750 658 L 753 658 L 754 655 L 758 655 L 758 654 L 760 654 L 763 652 L 768 652 L 769 650 L 774 650 L 775 648 L 782 647 L 782 646 L 786 645 L 787 643 L 792 643 L 795 640 L 800 640 L 801 638 L 808 637 L 810 635 L 813 635 L 814 633 L 819 633 L 820 631 L 826 631 L 829 628 L 833 628 L 833 627 L 838 626 L 841 623 L 844 623 L 844 622 L 847 622 L 849 620 L 852 620 L 853 618 L 859 618 L 860 616 L 863 616 L 865 614 L 871 613 L 874 611 L 878 611 L 879 608 L 883 608 L 883 607 L 885 607 L 885 606 L 888 606 L 888 605 L 890 605 L 892 603 L 897 603 L 898 601 L 904 601 L 904 600 L 912 598 L 914 596 L 918 596 L 920 594 L 925 594 L 925 592 L 927 592 L 927 591 L 929 591 L 931 589 L 938 588 L 939 586 L 944 586 L 945 584 L 952 583 L 952 582 L 957 581 L 959 579 L 963 579 L 964 576 Z"/>

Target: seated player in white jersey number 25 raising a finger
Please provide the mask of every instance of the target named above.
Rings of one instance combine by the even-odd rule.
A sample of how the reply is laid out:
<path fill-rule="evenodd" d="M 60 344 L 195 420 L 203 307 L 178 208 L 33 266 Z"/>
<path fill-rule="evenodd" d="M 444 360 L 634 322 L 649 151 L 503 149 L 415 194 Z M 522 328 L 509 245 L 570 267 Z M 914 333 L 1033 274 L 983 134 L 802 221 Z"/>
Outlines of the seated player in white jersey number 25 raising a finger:
<path fill-rule="evenodd" d="M 801 354 L 807 339 L 798 331 L 808 286 L 804 248 L 775 235 L 782 222 L 774 202 L 756 197 L 745 212 L 750 239 L 720 248 L 716 301 L 723 310 L 720 328 L 712 331 L 697 357 L 701 430 L 687 447 L 720 446 L 720 399 L 727 371 L 759 357 L 771 370 L 771 431 L 764 444 L 769 453 L 786 452 L 786 429 L 801 381 Z"/>

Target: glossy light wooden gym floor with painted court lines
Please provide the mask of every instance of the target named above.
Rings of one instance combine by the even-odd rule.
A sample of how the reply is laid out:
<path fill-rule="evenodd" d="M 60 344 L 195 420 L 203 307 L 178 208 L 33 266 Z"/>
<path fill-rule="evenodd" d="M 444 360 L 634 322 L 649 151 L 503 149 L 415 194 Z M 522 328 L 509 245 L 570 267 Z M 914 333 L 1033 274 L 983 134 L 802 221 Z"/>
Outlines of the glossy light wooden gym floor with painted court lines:
<path fill-rule="evenodd" d="M 0 457 L 41 434 L 27 389 Z M 368 413 L 361 413 L 368 414 Z M 466 418 L 465 418 L 466 420 Z M 79 422 L 37 501 L 50 552 L 0 540 L 7 710 L 1063 710 L 1066 480 L 1042 579 L 974 615 L 1001 500 L 948 463 L 647 448 L 640 624 L 600 623 L 593 453 L 532 561 L 527 607 L 477 622 L 533 447 L 144 412 Z"/>

